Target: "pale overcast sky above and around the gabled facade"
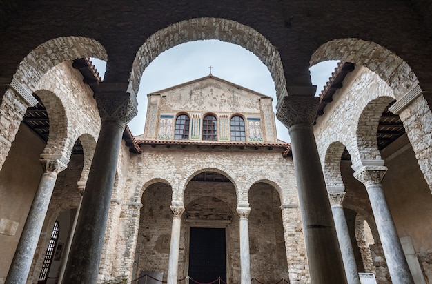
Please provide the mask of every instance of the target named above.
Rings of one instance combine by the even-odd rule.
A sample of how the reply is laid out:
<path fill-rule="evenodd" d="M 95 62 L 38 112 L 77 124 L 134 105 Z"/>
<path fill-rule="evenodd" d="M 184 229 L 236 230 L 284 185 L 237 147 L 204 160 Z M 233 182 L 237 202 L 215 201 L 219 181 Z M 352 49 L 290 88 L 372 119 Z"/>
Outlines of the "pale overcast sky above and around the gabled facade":
<path fill-rule="evenodd" d="M 104 61 L 92 59 L 92 62 L 103 78 Z M 192 41 L 161 53 L 144 70 L 137 94 L 138 114 L 128 123 L 132 133 L 137 136 L 144 132 L 147 94 L 206 77 L 210 65 L 213 66 L 212 74 L 215 77 L 273 97 L 273 110 L 276 113 L 275 84 L 266 65 L 255 54 L 232 43 L 217 40 Z M 337 61 L 326 61 L 311 68 L 312 83 L 317 85 L 317 94 L 326 85 L 336 65 Z M 277 119 L 276 128 L 280 140 L 291 141 L 288 130 Z"/>

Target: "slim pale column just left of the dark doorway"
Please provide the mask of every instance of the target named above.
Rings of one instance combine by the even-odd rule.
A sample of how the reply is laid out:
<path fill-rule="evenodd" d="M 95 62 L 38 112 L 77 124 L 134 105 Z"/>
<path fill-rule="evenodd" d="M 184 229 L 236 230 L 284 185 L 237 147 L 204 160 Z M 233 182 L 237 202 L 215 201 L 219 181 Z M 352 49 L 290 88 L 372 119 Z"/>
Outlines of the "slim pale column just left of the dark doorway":
<path fill-rule="evenodd" d="M 179 267 L 179 249 L 180 249 L 180 228 L 181 228 L 181 214 L 184 212 L 182 202 L 173 202 L 171 206 L 173 210 L 173 228 L 171 230 L 171 243 L 170 243 L 170 260 L 168 263 L 168 284 L 177 284 L 177 272 Z"/>

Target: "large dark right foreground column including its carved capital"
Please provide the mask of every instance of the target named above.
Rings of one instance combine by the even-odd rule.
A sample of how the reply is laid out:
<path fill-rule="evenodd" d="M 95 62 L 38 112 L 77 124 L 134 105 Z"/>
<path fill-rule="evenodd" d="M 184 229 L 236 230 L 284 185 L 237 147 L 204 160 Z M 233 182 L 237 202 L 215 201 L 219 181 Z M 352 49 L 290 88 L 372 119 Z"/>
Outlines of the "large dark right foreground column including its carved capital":
<path fill-rule="evenodd" d="M 317 114 L 316 88 L 290 88 L 279 99 L 277 119 L 291 136 L 291 150 L 302 212 L 303 232 L 312 283 L 346 283 L 344 263 L 328 201 L 312 123 Z M 304 94 L 304 95 L 293 95 Z"/>

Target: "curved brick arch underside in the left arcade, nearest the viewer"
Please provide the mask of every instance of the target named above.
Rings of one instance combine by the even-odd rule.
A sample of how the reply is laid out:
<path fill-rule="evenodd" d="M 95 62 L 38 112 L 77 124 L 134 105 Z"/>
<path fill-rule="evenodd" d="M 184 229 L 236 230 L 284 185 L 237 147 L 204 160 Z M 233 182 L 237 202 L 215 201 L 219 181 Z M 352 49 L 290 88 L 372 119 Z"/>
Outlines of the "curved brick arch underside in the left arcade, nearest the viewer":
<path fill-rule="evenodd" d="M 48 90 L 37 90 L 35 94 L 41 99 L 50 119 L 50 133 L 43 154 L 58 154 L 69 158 L 75 141 L 70 142 L 68 139 L 70 121 L 68 121 L 63 102 Z"/>

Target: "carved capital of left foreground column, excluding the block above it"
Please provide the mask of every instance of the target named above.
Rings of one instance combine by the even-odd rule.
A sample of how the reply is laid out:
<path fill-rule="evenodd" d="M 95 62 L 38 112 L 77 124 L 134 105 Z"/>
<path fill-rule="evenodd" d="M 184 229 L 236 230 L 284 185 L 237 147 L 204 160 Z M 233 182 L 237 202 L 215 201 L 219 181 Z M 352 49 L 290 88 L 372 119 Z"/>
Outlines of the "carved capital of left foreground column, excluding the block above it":
<path fill-rule="evenodd" d="M 117 120 L 128 123 L 137 115 L 137 98 L 129 92 L 98 92 L 96 103 L 101 119 Z"/>

